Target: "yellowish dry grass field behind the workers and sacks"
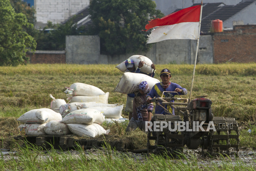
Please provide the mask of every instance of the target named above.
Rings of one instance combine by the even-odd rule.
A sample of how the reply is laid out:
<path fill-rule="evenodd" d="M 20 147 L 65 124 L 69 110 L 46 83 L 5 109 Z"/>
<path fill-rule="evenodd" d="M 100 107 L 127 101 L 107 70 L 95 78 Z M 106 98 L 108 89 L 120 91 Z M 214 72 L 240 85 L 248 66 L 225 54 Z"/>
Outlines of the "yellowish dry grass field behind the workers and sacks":
<path fill-rule="evenodd" d="M 15 118 L 38 108 L 49 108 L 52 99 L 66 99 L 65 87 L 74 82 L 94 85 L 104 92 L 110 92 L 109 103 L 126 104 L 126 95 L 113 92 L 122 76 L 115 65 L 27 65 L 1 67 L 0 70 L 0 133 L 7 140 L 17 132 Z M 157 65 L 155 78 L 159 78 L 162 68 L 170 68 L 171 81 L 190 90 L 192 65 Z M 214 116 L 235 117 L 240 123 L 256 121 L 256 64 L 212 64 L 197 65 L 192 98 L 208 95 L 213 101 Z M 189 92 L 184 96 L 189 97 Z M 66 102 L 68 102 L 66 100 Z M 125 107 L 125 106 L 124 106 Z M 128 113 L 123 111 L 123 117 Z M 8 120 L 7 120 L 8 119 Z M 6 120 L 6 121 L 5 121 Z M 7 125 L 7 126 L 5 126 Z M 10 126 L 10 127 L 9 127 Z M 124 128 L 107 126 L 111 136 L 125 137 Z M 145 137 L 142 132 L 127 136 L 136 146 L 142 148 Z M 138 138 L 140 137 L 140 138 Z M 256 138 L 256 137 L 255 137 Z M 129 141 L 130 141 L 129 140 Z M 4 141 L 6 142 L 6 141 Z M 11 142 L 9 143 L 11 144 Z M 145 144 L 144 144 L 145 145 Z M 5 145 L 4 145 L 5 146 Z M 10 145 L 9 145 L 10 147 Z"/>

